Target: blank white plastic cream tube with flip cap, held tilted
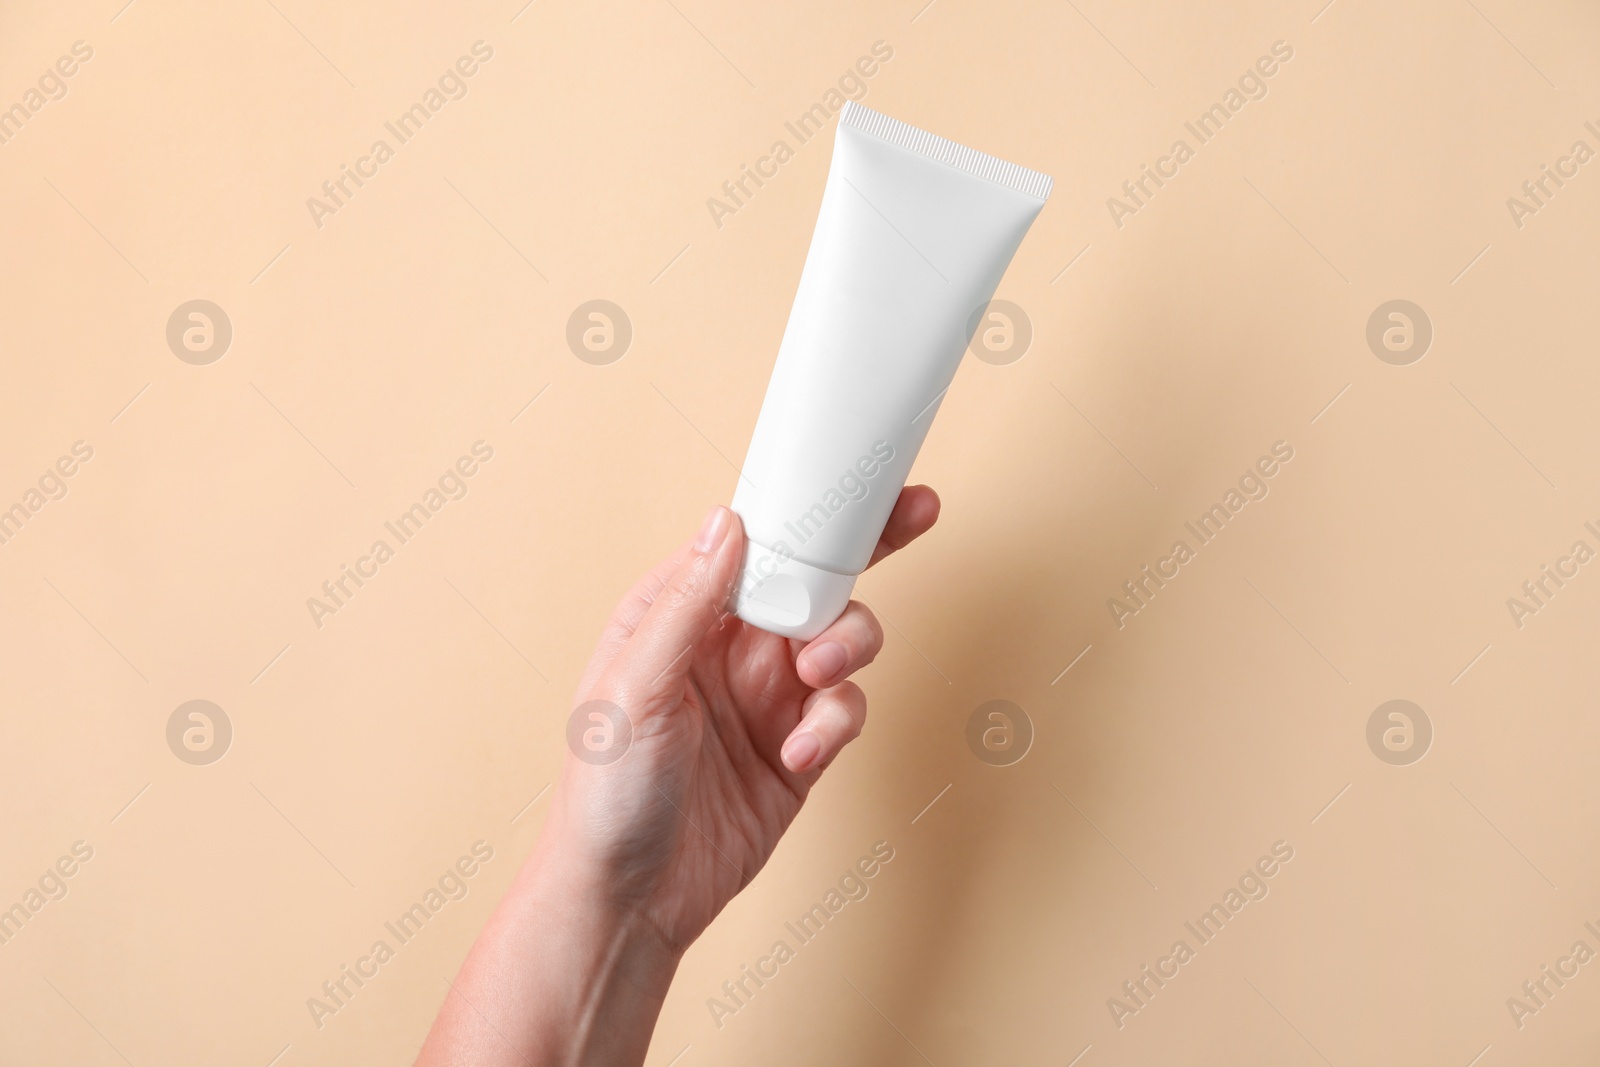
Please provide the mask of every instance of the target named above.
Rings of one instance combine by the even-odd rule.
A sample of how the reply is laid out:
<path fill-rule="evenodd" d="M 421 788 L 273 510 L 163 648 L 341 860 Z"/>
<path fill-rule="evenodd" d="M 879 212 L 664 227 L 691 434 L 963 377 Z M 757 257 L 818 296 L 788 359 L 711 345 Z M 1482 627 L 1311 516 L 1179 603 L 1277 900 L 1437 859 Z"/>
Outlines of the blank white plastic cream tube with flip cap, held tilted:
<path fill-rule="evenodd" d="M 734 613 L 810 640 L 843 613 L 1050 178 L 845 104 L 733 494 Z"/>

